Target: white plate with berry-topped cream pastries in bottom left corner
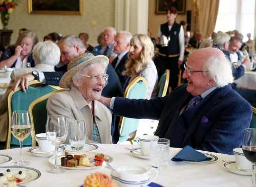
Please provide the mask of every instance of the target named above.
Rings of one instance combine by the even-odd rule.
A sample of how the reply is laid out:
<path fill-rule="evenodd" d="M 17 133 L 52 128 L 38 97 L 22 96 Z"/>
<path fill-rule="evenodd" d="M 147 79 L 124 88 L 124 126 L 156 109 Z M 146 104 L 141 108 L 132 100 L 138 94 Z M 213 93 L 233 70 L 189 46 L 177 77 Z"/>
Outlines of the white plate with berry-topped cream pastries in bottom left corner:
<path fill-rule="evenodd" d="M 22 166 L 0 167 L 0 173 L 4 173 L 7 169 L 10 169 L 13 175 L 18 173 L 19 171 L 26 173 L 25 179 L 22 182 L 18 182 L 17 184 L 25 184 L 25 183 L 31 182 L 33 180 L 36 180 L 41 176 L 40 171 L 38 171 L 34 168 L 28 168 L 28 167 L 22 167 Z"/>

